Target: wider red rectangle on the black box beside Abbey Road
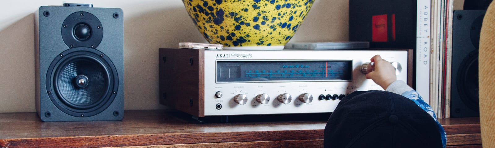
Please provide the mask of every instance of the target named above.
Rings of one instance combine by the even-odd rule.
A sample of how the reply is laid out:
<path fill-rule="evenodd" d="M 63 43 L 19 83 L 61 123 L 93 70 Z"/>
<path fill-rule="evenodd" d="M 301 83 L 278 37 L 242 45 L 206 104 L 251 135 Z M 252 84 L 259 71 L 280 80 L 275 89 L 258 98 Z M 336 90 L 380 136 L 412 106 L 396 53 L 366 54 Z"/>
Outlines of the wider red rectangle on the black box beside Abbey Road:
<path fill-rule="evenodd" d="M 387 14 L 372 16 L 372 41 L 386 42 L 388 41 L 387 33 Z"/>

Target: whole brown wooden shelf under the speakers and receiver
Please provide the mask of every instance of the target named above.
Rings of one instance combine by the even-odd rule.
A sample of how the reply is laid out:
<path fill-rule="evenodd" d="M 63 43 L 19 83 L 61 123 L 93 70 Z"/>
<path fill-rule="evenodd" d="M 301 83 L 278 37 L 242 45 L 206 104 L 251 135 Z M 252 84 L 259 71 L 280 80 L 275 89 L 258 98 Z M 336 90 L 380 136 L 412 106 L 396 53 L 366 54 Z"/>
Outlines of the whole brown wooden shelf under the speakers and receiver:
<path fill-rule="evenodd" d="M 479 118 L 439 122 L 447 146 L 481 147 Z M 322 147 L 325 125 L 324 119 L 198 123 L 184 113 L 164 110 L 125 111 L 122 121 L 81 122 L 42 122 L 36 113 L 0 113 L 0 148 Z"/>

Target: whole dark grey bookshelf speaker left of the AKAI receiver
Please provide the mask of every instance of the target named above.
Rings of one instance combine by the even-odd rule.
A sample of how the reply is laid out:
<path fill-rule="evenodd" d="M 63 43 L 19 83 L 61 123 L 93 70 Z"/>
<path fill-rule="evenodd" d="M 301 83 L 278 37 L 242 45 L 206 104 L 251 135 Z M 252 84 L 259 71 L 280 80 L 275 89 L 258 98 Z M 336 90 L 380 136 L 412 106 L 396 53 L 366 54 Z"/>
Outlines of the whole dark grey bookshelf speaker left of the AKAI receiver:
<path fill-rule="evenodd" d="M 121 120 L 123 12 L 41 6 L 35 14 L 36 110 L 43 121 Z"/>

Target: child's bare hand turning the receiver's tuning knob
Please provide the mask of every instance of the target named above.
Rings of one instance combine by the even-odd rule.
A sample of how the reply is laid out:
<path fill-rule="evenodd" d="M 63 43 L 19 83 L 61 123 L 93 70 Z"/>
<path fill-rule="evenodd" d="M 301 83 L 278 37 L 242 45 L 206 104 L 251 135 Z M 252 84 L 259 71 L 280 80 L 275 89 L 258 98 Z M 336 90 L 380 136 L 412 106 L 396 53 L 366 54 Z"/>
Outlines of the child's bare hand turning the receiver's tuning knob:
<path fill-rule="evenodd" d="M 382 86 L 385 90 L 392 82 L 397 80 L 396 70 L 390 62 L 382 59 L 380 55 L 375 55 L 371 58 L 374 65 L 368 66 L 366 74 L 367 79 L 372 79 L 375 83 Z"/>

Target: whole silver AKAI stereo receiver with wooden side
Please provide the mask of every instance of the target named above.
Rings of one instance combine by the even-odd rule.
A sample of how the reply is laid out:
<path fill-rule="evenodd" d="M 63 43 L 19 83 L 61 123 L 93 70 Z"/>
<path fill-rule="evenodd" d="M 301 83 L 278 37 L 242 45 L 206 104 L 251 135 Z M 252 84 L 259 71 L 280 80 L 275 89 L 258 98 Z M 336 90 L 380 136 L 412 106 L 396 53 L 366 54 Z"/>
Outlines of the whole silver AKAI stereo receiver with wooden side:
<path fill-rule="evenodd" d="M 353 91 L 383 90 L 361 70 L 377 54 L 411 85 L 412 50 L 160 48 L 160 104 L 198 117 L 332 112 Z"/>

